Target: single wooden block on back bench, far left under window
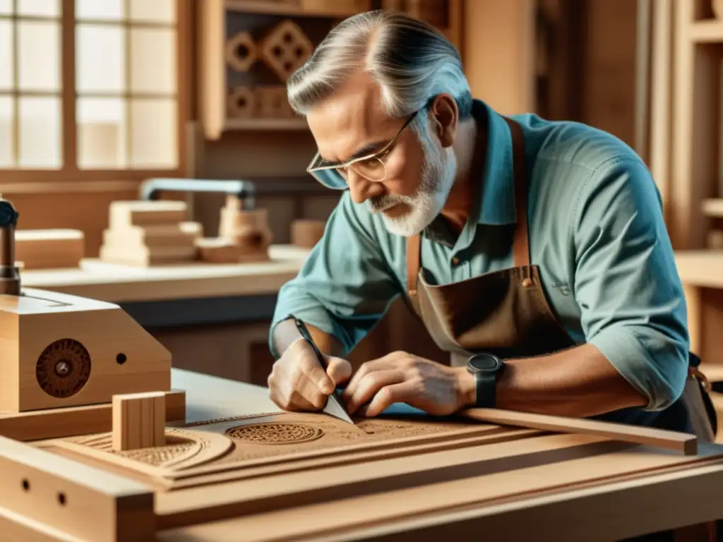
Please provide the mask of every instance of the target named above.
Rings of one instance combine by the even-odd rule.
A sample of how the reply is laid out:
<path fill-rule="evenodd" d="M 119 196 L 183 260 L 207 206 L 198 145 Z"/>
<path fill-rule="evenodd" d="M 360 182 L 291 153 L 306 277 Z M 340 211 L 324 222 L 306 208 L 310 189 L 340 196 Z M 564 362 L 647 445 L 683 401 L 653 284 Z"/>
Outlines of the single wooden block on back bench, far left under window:
<path fill-rule="evenodd" d="M 15 258 L 24 269 L 78 267 L 85 257 L 85 234 L 80 230 L 47 229 L 15 232 Z"/>

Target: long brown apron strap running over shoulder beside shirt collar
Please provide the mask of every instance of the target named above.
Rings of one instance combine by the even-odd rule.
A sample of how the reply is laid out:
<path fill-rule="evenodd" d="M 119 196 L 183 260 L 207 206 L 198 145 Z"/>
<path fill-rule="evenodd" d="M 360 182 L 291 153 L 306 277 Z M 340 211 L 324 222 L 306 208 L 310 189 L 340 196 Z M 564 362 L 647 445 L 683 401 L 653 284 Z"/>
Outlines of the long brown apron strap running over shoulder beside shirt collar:
<path fill-rule="evenodd" d="M 510 126 L 512 135 L 513 172 L 515 176 L 515 233 L 512 255 L 515 267 L 530 264 L 530 241 L 527 228 L 527 170 L 525 160 L 525 136 L 522 128 L 512 119 L 502 117 Z"/>

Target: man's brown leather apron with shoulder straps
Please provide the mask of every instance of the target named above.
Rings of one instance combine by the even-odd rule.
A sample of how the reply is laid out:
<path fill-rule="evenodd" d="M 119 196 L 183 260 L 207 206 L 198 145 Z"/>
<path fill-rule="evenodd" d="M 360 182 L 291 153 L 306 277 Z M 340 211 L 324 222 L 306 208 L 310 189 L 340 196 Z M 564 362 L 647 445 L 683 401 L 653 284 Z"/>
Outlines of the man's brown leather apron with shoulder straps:
<path fill-rule="evenodd" d="M 451 354 L 453 366 L 466 364 L 469 356 L 479 352 L 522 358 L 576 346 L 547 302 L 539 266 L 530 263 L 524 136 L 515 121 L 505 121 L 513 141 L 517 214 L 513 267 L 458 283 L 435 285 L 422 266 L 421 236 L 407 240 L 408 299 L 435 343 Z M 683 397 L 662 412 L 628 408 L 596 418 L 693 432 L 711 440 L 716 425 L 714 410 L 712 405 L 712 412 L 703 405 L 708 397 L 699 377 L 691 366 Z"/>

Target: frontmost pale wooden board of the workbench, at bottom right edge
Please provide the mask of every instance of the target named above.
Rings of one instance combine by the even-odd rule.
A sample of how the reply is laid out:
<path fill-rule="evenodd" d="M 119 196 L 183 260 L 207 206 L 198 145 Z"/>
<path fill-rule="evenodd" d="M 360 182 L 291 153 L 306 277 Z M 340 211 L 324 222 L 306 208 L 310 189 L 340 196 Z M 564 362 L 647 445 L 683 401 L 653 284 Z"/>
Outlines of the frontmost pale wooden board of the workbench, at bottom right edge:
<path fill-rule="evenodd" d="M 158 540 L 463 540 L 484 532 L 489 540 L 607 542 L 713 520 L 722 483 L 719 459 L 636 447 L 168 529 Z M 601 520 L 601 511 L 615 519 Z"/>

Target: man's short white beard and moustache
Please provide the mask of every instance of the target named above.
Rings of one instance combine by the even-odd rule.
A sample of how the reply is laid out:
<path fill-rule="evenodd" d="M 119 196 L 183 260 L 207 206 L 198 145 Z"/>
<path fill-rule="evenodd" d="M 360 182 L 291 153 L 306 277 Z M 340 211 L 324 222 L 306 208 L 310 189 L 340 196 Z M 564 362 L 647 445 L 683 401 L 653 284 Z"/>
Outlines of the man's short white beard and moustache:
<path fill-rule="evenodd" d="M 452 147 L 438 149 L 426 133 L 419 134 L 419 139 L 424 150 L 424 164 L 416 194 L 392 194 L 367 201 L 372 212 L 382 212 L 399 203 L 410 207 L 406 215 L 399 217 L 389 217 L 382 212 L 385 227 L 398 236 L 411 237 L 421 233 L 437 218 L 447 202 L 457 175 L 457 161 Z"/>

